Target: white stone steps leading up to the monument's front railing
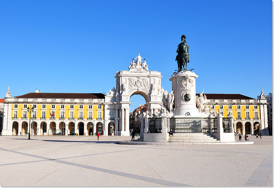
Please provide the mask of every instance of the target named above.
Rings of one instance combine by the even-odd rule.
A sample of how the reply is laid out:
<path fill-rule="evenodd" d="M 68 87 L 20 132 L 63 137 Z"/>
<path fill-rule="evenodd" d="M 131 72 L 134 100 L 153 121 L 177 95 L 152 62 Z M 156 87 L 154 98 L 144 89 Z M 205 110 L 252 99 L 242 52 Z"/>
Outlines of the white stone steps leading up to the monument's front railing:
<path fill-rule="evenodd" d="M 168 142 L 185 142 L 185 143 L 212 143 L 220 142 L 210 133 L 173 133 L 168 137 Z"/>

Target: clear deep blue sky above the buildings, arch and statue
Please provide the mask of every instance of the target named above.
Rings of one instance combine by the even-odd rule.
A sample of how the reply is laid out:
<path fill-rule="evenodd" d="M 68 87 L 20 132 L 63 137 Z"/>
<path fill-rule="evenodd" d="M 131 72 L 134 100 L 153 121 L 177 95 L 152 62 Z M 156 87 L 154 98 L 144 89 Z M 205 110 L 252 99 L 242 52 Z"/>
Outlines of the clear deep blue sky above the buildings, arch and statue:
<path fill-rule="evenodd" d="M 197 93 L 272 91 L 272 1 L 0 1 L 0 12 L 0 98 L 8 86 L 108 92 L 138 52 L 171 92 L 183 34 Z"/>

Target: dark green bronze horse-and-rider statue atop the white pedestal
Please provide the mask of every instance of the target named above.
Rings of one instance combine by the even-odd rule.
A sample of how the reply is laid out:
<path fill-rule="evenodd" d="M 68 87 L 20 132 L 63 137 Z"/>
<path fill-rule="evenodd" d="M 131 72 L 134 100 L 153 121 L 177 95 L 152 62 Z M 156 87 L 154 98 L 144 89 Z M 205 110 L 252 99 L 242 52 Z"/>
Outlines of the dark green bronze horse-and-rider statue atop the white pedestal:
<path fill-rule="evenodd" d="M 187 70 L 185 66 L 187 66 L 189 62 L 189 53 L 188 53 L 188 45 L 186 44 L 186 35 L 182 35 L 181 37 L 182 42 L 177 47 L 177 56 L 175 61 L 177 61 L 178 64 L 178 72 L 184 70 Z"/>

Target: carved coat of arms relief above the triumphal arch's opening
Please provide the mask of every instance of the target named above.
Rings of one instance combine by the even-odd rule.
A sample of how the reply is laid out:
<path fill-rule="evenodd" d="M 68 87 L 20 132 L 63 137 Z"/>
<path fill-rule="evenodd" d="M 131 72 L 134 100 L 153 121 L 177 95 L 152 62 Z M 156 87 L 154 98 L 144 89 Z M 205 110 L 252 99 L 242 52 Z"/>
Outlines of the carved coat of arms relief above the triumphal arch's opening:
<path fill-rule="evenodd" d="M 144 90 L 146 92 L 149 91 L 149 78 L 128 78 L 129 81 L 129 92 L 133 90 Z"/>

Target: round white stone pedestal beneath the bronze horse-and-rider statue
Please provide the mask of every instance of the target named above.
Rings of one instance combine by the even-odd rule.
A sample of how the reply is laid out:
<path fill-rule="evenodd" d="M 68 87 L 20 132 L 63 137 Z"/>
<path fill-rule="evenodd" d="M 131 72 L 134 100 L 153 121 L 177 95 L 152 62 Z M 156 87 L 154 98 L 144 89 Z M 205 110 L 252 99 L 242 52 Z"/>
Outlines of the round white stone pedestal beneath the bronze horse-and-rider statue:
<path fill-rule="evenodd" d="M 169 79 L 174 93 L 173 117 L 204 117 L 196 107 L 196 81 L 198 76 L 192 71 L 180 71 Z"/>

